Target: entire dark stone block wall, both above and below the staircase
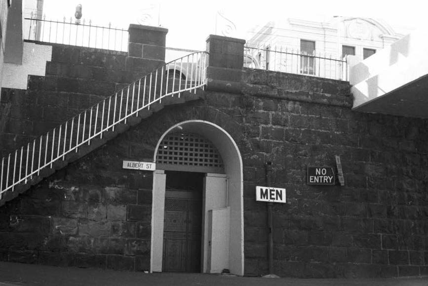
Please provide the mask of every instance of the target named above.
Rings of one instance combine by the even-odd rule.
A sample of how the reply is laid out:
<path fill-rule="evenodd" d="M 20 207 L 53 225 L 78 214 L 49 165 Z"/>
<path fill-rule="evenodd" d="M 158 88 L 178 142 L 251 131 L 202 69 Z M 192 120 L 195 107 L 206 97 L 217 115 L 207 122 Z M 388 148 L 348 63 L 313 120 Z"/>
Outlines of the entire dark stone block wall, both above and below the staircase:
<path fill-rule="evenodd" d="M 27 91 L 2 90 L 3 154 L 138 75 L 120 53 L 54 46 L 53 57 Z M 165 107 L 2 206 L 0 259 L 149 270 L 152 173 L 122 160 L 152 160 L 169 127 L 205 120 L 242 156 L 246 275 L 268 273 L 267 206 L 255 200 L 266 162 L 272 186 L 287 189 L 273 205 L 275 274 L 426 275 L 428 121 L 352 112 L 347 82 L 234 68 L 210 70 L 205 100 Z M 307 185 L 307 166 L 335 166 L 335 155 L 345 186 Z"/>

